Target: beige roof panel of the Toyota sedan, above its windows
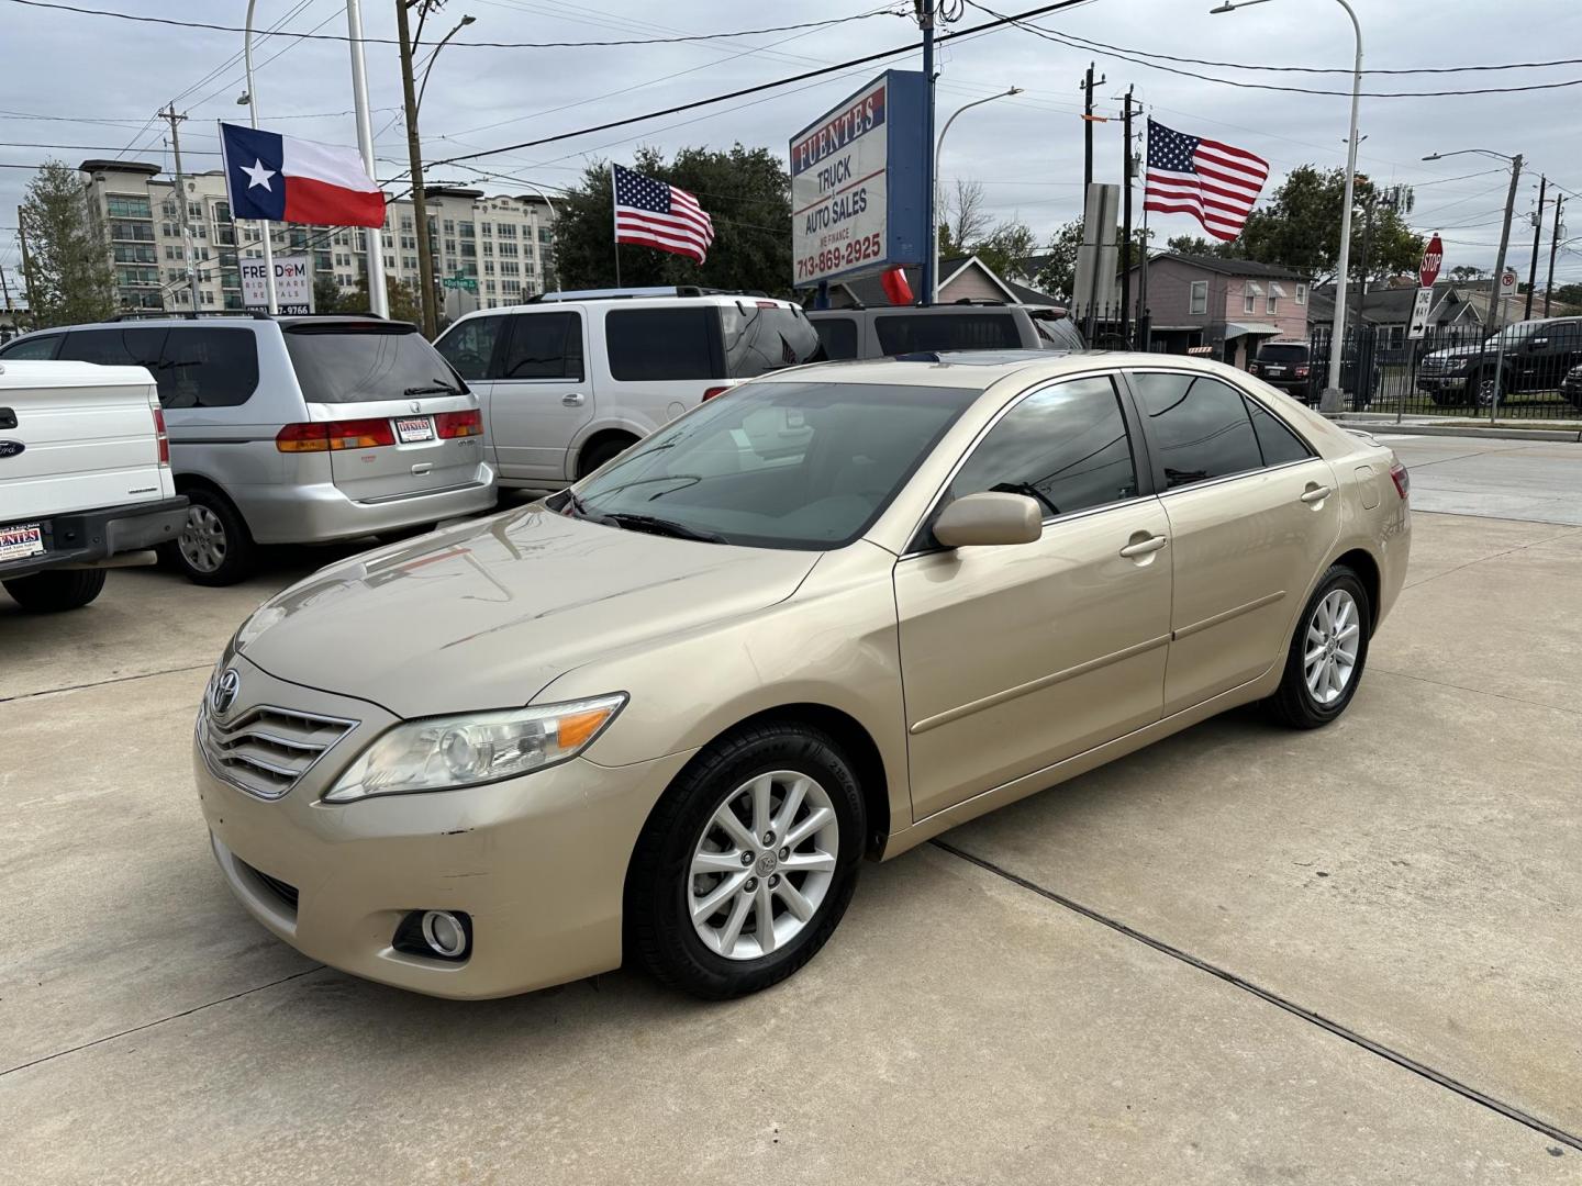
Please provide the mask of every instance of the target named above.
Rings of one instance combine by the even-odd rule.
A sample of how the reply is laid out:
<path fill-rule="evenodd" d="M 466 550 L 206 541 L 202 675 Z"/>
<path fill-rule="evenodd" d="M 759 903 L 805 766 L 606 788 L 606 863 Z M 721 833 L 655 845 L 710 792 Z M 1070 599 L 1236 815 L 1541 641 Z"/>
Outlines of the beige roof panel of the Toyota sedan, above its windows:
<path fill-rule="evenodd" d="M 1196 370 L 1204 375 L 1237 375 L 1245 372 L 1223 362 L 1186 354 L 1153 354 L 1134 351 L 1082 349 L 963 349 L 900 354 L 889 359 L 812 362 L 805 367 L 774 370 L 756 383 L 813 380 L 831 383 L 873 383 L 916 387 L 978 387 L 987 391 L 1001 380 L 1043 383 L 1063 375 L 1090 372 L 1095 367 L 1147 367 L 1150 370 Z"/>

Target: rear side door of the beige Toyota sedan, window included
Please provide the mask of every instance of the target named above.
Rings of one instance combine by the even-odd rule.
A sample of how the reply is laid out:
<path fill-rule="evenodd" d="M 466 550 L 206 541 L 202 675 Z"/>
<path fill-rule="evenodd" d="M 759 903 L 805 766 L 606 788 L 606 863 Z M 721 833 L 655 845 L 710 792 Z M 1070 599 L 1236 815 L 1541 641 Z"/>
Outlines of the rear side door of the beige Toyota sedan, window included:
<path fill-rule="evenodd" d="M 1327 462 L 1231 384 L 1182 372 L 1130 380 L 1171 525 L 1171 715 L 1285 661 L 1340 533 L 1340 492 Z"/>

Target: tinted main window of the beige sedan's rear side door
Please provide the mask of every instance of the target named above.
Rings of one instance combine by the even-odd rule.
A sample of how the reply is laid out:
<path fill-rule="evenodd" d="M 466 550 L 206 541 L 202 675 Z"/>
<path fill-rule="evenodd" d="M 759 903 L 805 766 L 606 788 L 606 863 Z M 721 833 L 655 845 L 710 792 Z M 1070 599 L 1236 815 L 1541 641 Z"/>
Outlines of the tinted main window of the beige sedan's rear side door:
<path fill-rule="evenodd" d="M 1247 403 L 1234 387 L 1204 375 L 1139 372 L 1131 376 L 1164 463 L 1164 485 L 1262 468 Z"/>

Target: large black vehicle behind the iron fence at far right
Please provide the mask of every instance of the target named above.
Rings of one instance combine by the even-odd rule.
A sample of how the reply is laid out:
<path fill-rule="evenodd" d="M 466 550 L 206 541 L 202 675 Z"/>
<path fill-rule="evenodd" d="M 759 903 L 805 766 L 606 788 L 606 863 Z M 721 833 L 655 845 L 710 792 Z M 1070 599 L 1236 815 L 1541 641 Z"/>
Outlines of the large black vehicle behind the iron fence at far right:
<path fill-rule="evenodd" d="M 1417 367 L 1417 389 L 1435 403 L 1455 406 L 1528 391 L 1554 391 L 1582 364 L 1582 318 L 1516 321 L 1485 342 L 1425 354 Z"/>

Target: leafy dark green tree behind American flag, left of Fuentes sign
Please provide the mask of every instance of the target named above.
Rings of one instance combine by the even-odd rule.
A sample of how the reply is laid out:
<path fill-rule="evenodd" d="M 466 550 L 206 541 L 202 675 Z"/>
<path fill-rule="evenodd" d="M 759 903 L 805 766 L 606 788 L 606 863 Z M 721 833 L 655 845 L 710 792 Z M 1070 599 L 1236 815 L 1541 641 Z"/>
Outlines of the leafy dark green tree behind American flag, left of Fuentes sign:
<path fill-rule="evenodd" d="M 702 264 L 652 247 L 620 248 L 620 283 L 704 285 L 791 293 L 791 179 L 769 149 L 682 149 L 671 163 L 639 149 L 633 168 L 698 196 L 713 220 Z M 555 272 L 560 288 L 615 285 L 614 199 L 609 166 L 590 164 L 558 202 Z"/>

